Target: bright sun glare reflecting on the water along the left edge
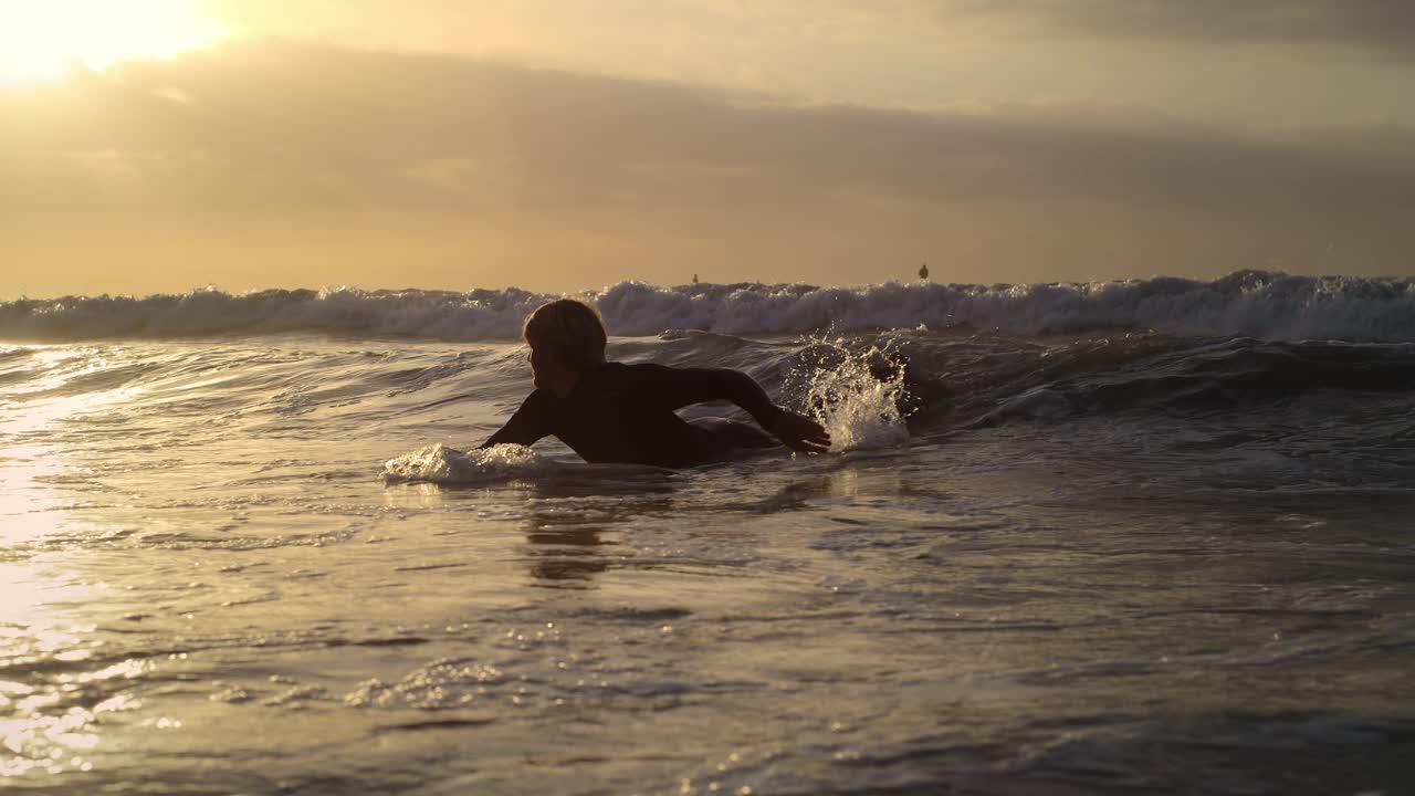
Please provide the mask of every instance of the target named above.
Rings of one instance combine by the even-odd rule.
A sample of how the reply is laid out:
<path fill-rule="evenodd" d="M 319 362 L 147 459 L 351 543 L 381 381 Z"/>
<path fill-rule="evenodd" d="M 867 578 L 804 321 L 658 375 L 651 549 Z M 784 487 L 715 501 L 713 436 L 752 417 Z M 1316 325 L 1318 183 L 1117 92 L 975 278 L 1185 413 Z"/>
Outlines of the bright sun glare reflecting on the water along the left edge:
<path fill-rule="evenodd" d="M 93 586 L 62 567 L 67 552 L 35 547 L 71 523 L 71 501 L 58 486 L 72 469 L 55 440 L 68 431 L 62 425 L 136 390 L 62 395 L 67 382 L 105 367 L 93 351 L 45 348 L 34 364 L 44 375 L 10 390 L 27 399 L 0 404 L 0 782 L 92 771 L 85 755 L 99 745 L 98 717 L 137 703 L 116 694 L 88 704 L 89 697 L 110 691 L 99 687 L 103 681 L 133 678 L 146 667 L 133 659 L 75 670 L 103 643 L 95 625 L 74 616 L 72 606 L 92 605 Z"/>

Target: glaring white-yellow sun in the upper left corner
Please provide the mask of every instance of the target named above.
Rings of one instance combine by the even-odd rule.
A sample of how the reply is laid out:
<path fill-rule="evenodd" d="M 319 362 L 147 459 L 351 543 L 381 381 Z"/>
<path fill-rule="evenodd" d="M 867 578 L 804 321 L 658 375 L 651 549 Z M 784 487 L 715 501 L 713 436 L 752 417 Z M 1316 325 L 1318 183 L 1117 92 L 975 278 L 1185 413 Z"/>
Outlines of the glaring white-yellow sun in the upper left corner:
<path fill-rule="evenodd" d="M 0 0 L 0 84 L 168 58 L 219 38 L 198 0 Z"/>

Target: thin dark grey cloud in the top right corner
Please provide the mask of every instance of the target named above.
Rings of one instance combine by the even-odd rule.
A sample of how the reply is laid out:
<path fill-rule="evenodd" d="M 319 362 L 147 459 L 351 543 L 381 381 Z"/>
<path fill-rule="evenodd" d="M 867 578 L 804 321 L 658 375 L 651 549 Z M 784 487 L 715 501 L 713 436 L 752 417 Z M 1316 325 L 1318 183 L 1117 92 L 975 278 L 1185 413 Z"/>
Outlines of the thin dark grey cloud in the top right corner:
<path fill-rule="evenodd" d="M 942 0 L 941 20 L 1009 18 L 1043 30 L 1211 44 L 1337 45 L 1415 57 L 1407 0 Z"/>

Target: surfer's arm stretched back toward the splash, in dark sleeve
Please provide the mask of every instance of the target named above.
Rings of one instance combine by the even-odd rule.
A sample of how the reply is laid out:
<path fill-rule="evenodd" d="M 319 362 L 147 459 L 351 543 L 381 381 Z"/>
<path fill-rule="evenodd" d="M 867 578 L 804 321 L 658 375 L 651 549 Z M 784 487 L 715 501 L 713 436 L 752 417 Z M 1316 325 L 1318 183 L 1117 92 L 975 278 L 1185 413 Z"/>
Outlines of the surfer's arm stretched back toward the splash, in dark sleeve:
<path fill-rule="evenodd" d="M 657 364 L 631 365 L 645 381 L 645 391 L 668 409 L 681 409 L 705 401 L 732 401 L 757 425 L 787 448 L 819 453 L 831 446 L 831 435 L 821 423 L 771 402 L 767 391 L 750 375 L 729 368 L 671 368 Z"/>

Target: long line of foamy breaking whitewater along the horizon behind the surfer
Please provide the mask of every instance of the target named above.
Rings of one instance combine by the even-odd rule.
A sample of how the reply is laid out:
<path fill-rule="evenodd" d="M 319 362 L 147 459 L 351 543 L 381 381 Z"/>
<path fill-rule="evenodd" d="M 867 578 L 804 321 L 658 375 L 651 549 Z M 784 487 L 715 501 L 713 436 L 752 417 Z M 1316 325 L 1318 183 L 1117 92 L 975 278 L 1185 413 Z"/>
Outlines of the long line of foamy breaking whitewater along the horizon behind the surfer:
<path fill-rule="evenodd" d="M 556 296 L 505 290 L 259 290 L 68 296 L 0 302 L 0 339 L 89 340 L 333 333 L 434 340 L 514 340 Z M 1242 271 L 1211 282 L 1159 276 L 1088 283 L 934 282 L 682 285 L 620 282 L 580 297 L 610 331 L 799 334 L 876 329 L 969 329 L 1003 334 L 1138 330 L 1274 340 L 1415 341 L 1415 279 L 1293 276 Z"/>

